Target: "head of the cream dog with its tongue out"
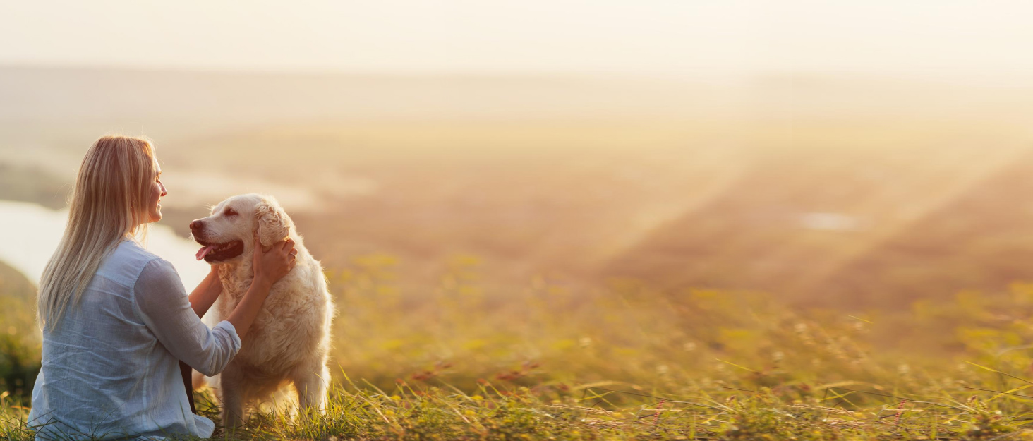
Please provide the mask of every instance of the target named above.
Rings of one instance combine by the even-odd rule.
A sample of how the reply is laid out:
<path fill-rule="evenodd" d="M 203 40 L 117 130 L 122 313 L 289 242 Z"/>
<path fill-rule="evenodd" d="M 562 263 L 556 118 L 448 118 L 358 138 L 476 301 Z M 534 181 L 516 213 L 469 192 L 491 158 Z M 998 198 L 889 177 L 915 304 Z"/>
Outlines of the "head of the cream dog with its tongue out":
<path fill-rule="evenodd" d="M 219 202 L 212 216 L 190 222 L 194 241 L 202 247 L 197 260 L 229 263 L 251 255 L 254 239 L 270 246 L 293 235 L 294 223 L 273 196 L 241 194 Z"/>

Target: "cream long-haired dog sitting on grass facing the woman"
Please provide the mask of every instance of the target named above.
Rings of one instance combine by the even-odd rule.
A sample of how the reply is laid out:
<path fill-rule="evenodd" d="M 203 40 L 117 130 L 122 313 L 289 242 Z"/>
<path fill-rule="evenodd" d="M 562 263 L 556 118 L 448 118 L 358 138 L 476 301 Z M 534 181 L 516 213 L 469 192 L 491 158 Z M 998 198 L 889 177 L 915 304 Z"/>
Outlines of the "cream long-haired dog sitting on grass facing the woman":
<path fill-rule="evenodd" d="M 273 284 L 247 341 L 217 380 L 222 401 L 222 422 L 227 428 L 245 420 L 245 407 L 282 396 L 281 387 L 292 382 L 299 405 L 319 413 L 326 410 L 330 371 L 330 326 L 334 304 L 319 261 L 312 258 L 294 223 L 276 199 L 243 194 L 223 200 L 212 216 L 190 223 L 193 239 L 204 248 L 197 259 L 220 263 L 223 293 L 206 319 L 218 322 L 229 316 L 254 277 L 252 254 L 257 234 L 262 246 L 285 238 L 294 240 L 296 264 Z M 205 382 L 194 373 L 194 387 Z"/>

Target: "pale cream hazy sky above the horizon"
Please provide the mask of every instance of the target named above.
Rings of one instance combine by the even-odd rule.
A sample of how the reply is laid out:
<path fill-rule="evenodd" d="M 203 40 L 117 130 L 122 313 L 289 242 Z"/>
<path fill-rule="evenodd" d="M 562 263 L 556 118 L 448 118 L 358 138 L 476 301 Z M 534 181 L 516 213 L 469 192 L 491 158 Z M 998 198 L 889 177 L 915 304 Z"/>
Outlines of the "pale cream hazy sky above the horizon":
<path fill-rule="evenodd" d="M 1025 78 L 1030 18 L 1025 1 L 0 0 L 0 63 Z"/>

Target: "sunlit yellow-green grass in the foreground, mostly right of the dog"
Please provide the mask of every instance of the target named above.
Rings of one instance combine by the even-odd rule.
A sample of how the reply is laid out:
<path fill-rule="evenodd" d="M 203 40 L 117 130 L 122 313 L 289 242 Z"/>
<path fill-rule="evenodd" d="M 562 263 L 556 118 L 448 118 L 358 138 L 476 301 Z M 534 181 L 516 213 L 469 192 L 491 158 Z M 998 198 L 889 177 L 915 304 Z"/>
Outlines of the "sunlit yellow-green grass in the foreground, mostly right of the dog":
<path fill-rule="evenodd" d="M 410 291 L 396 265 L 327 273 L 341 313 L 325 415 L 256 412 L 215 437 L 1033 439 L 1031 285 L 845 313 L 634 281 L 536 278 L 502 296 L 472 257 Z M 3 392 L 0 437 L 32 438 L 26 401 Z"/>

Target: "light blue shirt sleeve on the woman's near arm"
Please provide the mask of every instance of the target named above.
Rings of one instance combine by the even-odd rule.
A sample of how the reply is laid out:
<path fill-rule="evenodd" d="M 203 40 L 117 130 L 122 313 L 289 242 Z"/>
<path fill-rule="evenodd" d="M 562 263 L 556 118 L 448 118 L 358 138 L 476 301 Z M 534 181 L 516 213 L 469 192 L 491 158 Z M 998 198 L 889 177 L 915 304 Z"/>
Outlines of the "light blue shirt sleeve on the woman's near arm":
<path fill-rule="evenodd" d="M 228 321 L 209 328 L 190 307 L 190 301 L 173 264 L 154 259 L 136 279 L 135 302 L 144 322 L 168 349 L 201 374 L 222 372 L 241 349 L 241 338 Z"/>

